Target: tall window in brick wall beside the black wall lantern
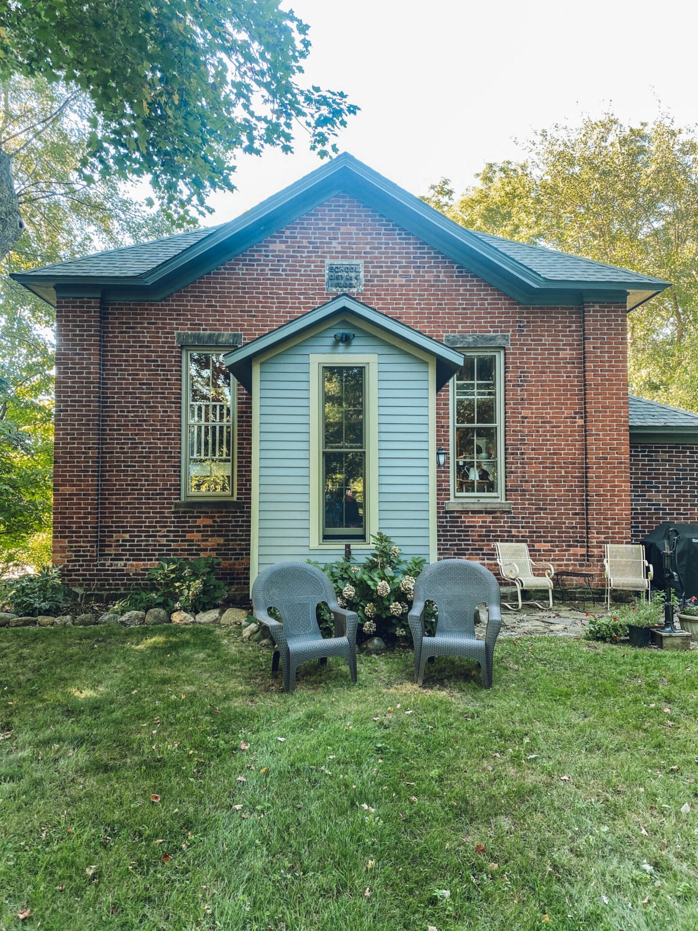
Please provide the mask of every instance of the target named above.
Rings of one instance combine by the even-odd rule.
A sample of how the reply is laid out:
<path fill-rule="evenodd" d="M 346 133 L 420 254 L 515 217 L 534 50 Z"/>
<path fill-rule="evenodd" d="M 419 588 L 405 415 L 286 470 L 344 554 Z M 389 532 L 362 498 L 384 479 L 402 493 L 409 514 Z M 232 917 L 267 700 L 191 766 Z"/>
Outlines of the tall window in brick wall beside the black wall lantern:
<path fill-rule="evenodd" d="M 453 493 L 456 498 L 504 498 L 504 356 L 464 351 L 452 383 Z"/>

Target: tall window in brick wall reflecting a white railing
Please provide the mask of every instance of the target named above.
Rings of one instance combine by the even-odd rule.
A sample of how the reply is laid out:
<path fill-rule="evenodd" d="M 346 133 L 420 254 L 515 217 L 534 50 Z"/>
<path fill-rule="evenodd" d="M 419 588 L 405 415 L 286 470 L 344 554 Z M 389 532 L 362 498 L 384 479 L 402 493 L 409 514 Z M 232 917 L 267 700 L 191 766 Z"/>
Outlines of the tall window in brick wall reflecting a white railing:
<path fill-rule="evenodd" d="M 235 494 L 235 380 L 225 366 L 224 351 L 187 348 L 183 352 L 184 498 Z"/>

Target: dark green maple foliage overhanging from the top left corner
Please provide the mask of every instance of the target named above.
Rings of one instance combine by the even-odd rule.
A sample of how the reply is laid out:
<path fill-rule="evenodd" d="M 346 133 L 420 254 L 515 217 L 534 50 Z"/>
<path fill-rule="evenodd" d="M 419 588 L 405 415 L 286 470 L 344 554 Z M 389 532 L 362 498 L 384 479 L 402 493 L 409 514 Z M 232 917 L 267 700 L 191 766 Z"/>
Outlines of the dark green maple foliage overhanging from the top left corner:
<path fill-rule="evenodd" d="M 239 151 L 289 152 L 301 127 L 329 155 L 356 107 L 302 83 L 307 33 L 280 0 L 13 0 L 0 12 L 0 80 L 60 80 L 86 95 L 82 177 L 148 179 L 175 218 L 233 189 Z M 12 141 L 0 137 L 0 255 L 20 236 Z"/>

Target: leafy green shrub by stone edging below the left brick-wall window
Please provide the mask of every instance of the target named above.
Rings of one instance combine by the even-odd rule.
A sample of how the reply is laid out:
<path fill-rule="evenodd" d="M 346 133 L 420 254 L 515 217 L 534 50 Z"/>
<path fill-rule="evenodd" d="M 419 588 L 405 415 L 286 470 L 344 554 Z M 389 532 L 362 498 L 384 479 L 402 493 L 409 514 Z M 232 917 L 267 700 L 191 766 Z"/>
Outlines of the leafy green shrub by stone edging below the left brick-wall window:
<path fill-rule="evenodd" d="M 129 591 L 112 608 L 120 612 L 149 611 L 150 608 L 198 612 L 216 608 L 228 591 L 226 584 L 216 576 L 220 567 L 221 560 L 214 556 L 160 560 L 148 570 L 148 587 Z"/>

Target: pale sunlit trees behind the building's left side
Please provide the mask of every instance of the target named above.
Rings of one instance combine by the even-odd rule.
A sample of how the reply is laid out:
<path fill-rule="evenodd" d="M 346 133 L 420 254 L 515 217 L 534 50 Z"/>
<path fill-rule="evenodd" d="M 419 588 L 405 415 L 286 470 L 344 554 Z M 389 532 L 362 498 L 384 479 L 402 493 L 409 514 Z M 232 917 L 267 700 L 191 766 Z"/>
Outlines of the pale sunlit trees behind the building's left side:
<path fill-rule="evenodd" d="M 84 96 L 43 79 L 0 87 L 0 134 L 14 135 L 26 227 L 0 263 L 0 575 L 8 563 L 49 557 L 53 452 L 54 310 L 7 272 L 174 232 L 114 178 L 81 177 L 88 113 Z"/>

